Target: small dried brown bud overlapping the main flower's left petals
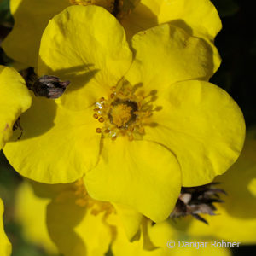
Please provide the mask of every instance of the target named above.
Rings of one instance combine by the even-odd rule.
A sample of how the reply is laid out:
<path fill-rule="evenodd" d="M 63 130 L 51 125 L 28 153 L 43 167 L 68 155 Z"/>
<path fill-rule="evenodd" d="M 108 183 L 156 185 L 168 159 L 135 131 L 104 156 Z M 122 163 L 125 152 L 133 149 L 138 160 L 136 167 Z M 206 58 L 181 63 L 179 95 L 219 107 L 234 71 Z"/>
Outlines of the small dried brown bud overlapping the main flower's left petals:
<path fill-rule="evenodd" d="M 61 79 L 55 76 L 44 75 L 36 79 L 30 89 L 34 92 L 35 96 L 56 99 L 64 93 L 68 84 L 70 84 L 69 81 L 61 82 Z"/>

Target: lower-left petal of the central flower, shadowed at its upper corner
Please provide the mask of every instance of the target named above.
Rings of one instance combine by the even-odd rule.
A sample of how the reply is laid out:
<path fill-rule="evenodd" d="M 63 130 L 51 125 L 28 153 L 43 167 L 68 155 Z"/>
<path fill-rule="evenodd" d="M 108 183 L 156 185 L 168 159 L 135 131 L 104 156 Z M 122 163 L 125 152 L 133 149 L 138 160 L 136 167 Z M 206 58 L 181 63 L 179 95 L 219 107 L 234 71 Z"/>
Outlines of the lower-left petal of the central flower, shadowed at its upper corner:
<path fill-rule="evenodd" d="M 71 183 L 96 165 L 100 135 L 92 109 L 73 112 L 46 98 L 33 97 L 20 118 L 23 135 L 4 148 L 21 175 L 41 183 Z"/>

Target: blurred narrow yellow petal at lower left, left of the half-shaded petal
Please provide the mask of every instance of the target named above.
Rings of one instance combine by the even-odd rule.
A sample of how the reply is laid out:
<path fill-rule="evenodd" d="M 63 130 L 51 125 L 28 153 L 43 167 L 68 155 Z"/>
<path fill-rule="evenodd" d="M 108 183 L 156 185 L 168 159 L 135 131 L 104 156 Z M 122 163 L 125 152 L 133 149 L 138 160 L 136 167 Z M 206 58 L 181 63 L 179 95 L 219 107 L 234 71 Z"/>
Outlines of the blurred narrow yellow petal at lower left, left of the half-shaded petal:
<path fill-rule="evenodd" d="M 46 207 L 50 200 L 34 195 L 32 186 L 25 182 L 16 193 L 15 222 L 20 224 L 26 241 L 44 247 L 48 253 L 57 253 L 46 226 Z"/>

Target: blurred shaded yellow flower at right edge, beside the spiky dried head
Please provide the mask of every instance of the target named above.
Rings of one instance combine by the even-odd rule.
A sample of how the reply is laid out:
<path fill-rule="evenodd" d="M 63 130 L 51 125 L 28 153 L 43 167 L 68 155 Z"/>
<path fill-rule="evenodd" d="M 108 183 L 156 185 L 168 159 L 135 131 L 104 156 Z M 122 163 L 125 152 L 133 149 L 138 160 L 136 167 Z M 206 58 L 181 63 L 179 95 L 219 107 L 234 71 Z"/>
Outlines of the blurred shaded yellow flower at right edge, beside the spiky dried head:
<path fill-rule="evenodd" d="M 241 245 L 256 243 L 256 140 L 247 139 L 239 159 L 224 175 L 216 178 L 227 193 L 224 203 L 216 204 L 215 216 L 205 216 L 209 225 L 191 218 L 173 226 L 189 236 L 215 236 Z"/>

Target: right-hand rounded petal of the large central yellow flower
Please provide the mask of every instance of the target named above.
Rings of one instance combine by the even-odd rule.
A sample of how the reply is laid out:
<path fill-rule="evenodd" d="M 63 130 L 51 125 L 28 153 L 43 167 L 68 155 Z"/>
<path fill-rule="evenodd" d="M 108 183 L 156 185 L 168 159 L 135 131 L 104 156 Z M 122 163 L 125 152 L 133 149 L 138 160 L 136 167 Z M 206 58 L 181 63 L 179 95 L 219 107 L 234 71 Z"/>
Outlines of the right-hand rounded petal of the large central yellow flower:
<path fill-rule="evenodd" d="M 172 84 L 161 94 L 154 127 L 144 139 L 165 145 L 177 156 L 183 186 L 212 182 L 236 161 L 245 137 L 241 109 L 222 89 L 202 81 Z"/>

